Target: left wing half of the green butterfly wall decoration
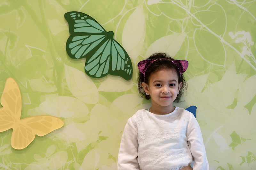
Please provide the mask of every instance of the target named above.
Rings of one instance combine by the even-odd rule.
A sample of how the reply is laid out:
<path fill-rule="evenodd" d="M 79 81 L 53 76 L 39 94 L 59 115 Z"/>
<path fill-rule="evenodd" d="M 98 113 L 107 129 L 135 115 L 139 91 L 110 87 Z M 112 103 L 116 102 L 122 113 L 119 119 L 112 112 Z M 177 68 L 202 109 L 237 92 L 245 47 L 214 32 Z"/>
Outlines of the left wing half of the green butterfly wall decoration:
<path fill-rule="evenodd" d="M 106 32 L 92 17 L 82 12 L 67 12 L 64 15 L 68 21 L 70 36 L 66 43 L 66 51 L 71 58 L 90 57 L 113 32 Z"/>

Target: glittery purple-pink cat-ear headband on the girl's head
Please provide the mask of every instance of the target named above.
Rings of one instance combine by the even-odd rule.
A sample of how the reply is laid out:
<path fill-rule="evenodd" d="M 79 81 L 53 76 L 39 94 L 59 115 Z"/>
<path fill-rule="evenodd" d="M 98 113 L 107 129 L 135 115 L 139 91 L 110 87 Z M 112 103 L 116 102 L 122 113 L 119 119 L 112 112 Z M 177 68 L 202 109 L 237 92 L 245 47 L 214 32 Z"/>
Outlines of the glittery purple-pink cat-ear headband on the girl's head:
<path fill-rule="evenodd" d="M 162 60 L 162 59 L 167 59 L 167 60 L 172 61 L 172 63 L 174 63 L 178 67 L 178 69 L 180 71 L 180 75 L 182 73 L 184 73 L 188 68 L 188 61 L 186 61 L 186 60 L 171 60 L 168 58 L 158 58 L 156 60 Z M 138 63 L 138 69 L 140 70 L 141 73 L 143 73 L 144 81 L 145 81 L 145 72 L 148 69 L 148 66 L 150 66 L 150 64 L 154 63 L 156 60 L 146 59 L 146 60 L 142 60 Z"/>

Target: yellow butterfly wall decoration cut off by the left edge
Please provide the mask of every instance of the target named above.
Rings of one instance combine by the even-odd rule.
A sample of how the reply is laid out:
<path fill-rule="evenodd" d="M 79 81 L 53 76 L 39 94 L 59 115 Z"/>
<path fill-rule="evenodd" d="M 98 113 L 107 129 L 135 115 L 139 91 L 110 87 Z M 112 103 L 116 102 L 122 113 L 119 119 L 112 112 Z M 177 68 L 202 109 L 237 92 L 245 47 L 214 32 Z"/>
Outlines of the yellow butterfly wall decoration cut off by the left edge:
<path fill-rule="evenodd" d="M 0 132 L 13 129 L 11 145 L 14 149 L 24 149 L 37 136 L 44 136 L 59 129 L 64 122 L 55 116 L 38 115 L 20 119 L 21 95 L 17 82 L 9 77 L 0 100 Z"/>

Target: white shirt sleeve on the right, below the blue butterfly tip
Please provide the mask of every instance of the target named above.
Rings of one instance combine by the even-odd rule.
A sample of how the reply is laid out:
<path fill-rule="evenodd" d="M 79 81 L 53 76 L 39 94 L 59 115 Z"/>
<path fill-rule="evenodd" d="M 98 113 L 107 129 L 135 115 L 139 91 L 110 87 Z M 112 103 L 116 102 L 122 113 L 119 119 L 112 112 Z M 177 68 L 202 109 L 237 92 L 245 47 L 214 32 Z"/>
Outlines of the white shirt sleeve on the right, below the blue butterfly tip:
<path fill-rule="evenodd" d="M 192 114 L 188 122 L 187 140 L 194 159 L 193 170 L 209 170 L 202 133 L 195 116 Z"/>

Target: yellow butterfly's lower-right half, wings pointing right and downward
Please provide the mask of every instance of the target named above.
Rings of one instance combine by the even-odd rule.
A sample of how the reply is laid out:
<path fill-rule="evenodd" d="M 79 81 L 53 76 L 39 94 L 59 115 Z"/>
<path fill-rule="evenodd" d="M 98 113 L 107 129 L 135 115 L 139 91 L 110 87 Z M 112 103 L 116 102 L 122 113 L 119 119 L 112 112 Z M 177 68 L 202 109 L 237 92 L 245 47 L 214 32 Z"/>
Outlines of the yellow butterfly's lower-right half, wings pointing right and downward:
<path fill-rule="evenodd" d="M 20 124 L 13 128 L 11 145 L 14 149 L 24 149 L 35 136 L 44 136 L 59 129 L 64 122 L 55 116 L 38 115 L 20 120 Z"/>

